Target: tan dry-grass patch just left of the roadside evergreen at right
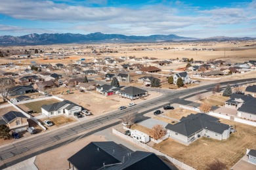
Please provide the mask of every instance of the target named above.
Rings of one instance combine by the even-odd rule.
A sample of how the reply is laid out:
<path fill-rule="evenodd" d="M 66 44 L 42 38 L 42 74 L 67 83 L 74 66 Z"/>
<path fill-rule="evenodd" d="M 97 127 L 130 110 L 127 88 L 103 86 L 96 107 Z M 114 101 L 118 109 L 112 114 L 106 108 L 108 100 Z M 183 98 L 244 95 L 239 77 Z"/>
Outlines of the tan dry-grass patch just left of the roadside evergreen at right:
<path fill-rule="evenodd" d="M 202 102 L 213 106 L 223 106 L 225 105 L 225 101 L 228 99 L 229 97 L 225 97 L 223 95 L 210 95 L 209 97 L 202 99 Z"/>

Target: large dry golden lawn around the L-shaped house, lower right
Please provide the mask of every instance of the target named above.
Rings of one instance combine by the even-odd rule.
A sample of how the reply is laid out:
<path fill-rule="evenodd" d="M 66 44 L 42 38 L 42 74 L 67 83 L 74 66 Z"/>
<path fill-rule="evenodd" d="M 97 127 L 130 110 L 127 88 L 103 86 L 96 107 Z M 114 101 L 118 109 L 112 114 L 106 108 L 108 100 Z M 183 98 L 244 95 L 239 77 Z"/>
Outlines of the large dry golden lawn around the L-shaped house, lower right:
<path fill-rule="evenodd" d="M 155 144 L 154 148 L 196 169 L 206 169 L 207 164 L 215 158 L 223 161 L 230 169 L 244 156 L 246 148 L 256 149 L 256 128 L 230 120 L 221 119 L 221 122 L 236 125 L 237 131 L 232 133 L 227 140 L 218 141 L 202 137 L 186 146 L 173 139 L 167 139 Z"/>

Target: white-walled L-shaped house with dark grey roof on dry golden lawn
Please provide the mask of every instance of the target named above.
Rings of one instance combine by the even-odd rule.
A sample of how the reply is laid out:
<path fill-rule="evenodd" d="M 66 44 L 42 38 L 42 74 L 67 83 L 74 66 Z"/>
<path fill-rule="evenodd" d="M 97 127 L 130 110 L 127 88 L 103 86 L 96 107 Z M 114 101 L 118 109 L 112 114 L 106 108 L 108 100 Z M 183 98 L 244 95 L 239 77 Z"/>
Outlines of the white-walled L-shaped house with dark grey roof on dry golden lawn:
<path fill-rule="evenodd" d="M 167 134 L 182 143 L 192 143 L 200 137 L 210 137 L 222 141 L 228 139 L 230 126 L 222 124 L 219 118 L 204 113 L 190 114 L 182 117 L 177 124 L 167 124 Z"/>

